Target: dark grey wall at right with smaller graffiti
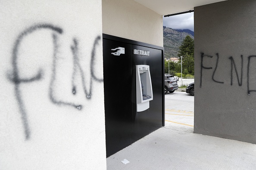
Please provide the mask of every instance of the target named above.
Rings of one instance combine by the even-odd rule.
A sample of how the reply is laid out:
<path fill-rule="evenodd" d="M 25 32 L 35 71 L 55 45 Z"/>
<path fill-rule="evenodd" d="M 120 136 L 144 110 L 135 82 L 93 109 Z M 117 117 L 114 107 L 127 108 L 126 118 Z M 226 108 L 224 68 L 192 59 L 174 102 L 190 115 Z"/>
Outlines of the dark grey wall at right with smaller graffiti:
<path fill-rule="evenodd" d="M 194 10 L 194 132 L 256 143 L 256 1 Z"/>

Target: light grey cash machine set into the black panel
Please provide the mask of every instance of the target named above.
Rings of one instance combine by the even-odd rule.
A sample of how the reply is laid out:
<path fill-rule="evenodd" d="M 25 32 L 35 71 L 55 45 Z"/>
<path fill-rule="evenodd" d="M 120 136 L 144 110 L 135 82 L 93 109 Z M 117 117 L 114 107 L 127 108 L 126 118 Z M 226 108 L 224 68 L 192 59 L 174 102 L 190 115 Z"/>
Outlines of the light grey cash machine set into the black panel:
<path fill-rule="evenodd" d="M 136 65 L 136 99 L 137 112 L 142 112 L 150 107 L 149 101 L 153 100 L 153 91 L 148 65 Z"/>

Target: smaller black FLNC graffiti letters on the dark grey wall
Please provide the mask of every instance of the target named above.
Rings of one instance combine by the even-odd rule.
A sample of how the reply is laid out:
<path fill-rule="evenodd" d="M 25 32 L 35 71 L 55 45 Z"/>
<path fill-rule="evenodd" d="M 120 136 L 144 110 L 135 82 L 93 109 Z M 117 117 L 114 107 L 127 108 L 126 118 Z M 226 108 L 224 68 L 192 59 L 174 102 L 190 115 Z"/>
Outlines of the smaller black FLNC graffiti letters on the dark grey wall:
<path fill-rule="evenodd" d="M 215 71 L 218 67 L 218 63 L 219 63 L 219 53 L 216 53 L 216 56 L 217 56 L 217 63 L 215 65 L 215 70 L 213 71 L 213 74 L 212 74 L 212 80 L 214 82 L 217 82 L 217 83 L 224 83 L 224 82 L 219 82 L 219 81 L 216 81 L 214 79 L 214 75 L 215 75 Z M 203 75 L 203 69 L 212 69 L 212 67 L 204 67 L 203 66 L 203 58 L 204 57 L 209 57 L 209 58 L 212 58 L 213 56 L 211 55 L 205 55 L 203 52 L 201 52 L 201 76 L 200 76 L 200 87 L 202 87 L 202 75 Z M 230 59 L 231 61 L 231 83 L 230 85 L 233 85 L 233 72 L 235 71 L 236 73 L 236 77 L 237 77 L 237 82 L 238 82 L 238 85 L 239 86 L 242 86 L 242 82 L 243 82 L 243 72 L 244 72 L 244 57 L 243 55 L 240 55 L 241 57 L 241 73 L 240 73 L 240 79 L 239 79 L 239 76 L 238 76 L 238 71 L 237 71 L 237 66 L 235 64 L 235 61 L 233 59 L 233 57 L 229 57 L 228 59 Z M 253 90 L 253 89 L 250 89 L 250 63 L 251 63 L 251 60 L 252 58 L 256 58 L 256 55 L 250 55 L 248 57 L 248 64 L 247 64 L 247 94 L 250 95 L 251 92 L 256 92 L 256 90 Z M 233 70 L 234 69 L 234 70 Z"/>

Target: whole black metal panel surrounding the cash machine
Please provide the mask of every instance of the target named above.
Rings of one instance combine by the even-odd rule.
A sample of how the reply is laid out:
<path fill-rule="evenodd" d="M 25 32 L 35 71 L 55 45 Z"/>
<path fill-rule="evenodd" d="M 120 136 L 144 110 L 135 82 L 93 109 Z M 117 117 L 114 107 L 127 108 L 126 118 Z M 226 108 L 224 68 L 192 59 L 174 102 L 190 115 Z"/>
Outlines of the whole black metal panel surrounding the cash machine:
<path fill-rule="evenodd" d="M 112 55 L 117 47 L 124 47 L 125 54 Z M 133 55 L 133 49 L 150 56 Z M 164 126 L 163 54 L 163 47 L 103 34 L 107 157 Z M 150 66 L 153 100 L 149 109 L 137 112 L 135 65 L 141 64 Z"/>

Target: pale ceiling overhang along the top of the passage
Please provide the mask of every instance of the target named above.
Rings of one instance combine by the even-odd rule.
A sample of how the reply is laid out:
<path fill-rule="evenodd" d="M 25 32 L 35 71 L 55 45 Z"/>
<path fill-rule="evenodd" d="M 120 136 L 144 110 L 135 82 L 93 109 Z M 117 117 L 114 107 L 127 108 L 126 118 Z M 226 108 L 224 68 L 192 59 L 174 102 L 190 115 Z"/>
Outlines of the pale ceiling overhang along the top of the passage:
<path fill-rule="evenodd" d="M 137 3 L 157 12 L 160 15 L 168 15 L 194 9 L 195 6 L 202 6 L 209 3 L 216 3 L 225 0 L 134 0 Z"/>

